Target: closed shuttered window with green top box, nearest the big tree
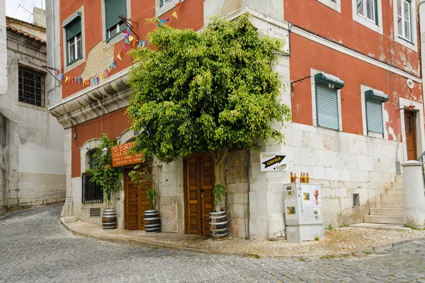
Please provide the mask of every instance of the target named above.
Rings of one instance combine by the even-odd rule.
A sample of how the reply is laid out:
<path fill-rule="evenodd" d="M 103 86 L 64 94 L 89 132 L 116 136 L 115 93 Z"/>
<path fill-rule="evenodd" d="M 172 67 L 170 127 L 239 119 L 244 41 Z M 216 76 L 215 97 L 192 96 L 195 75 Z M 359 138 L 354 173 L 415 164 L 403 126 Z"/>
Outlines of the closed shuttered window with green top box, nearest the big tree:
<path fill-rule="evenodd" d="M 317 126 L 339 130 L 338 90 L 344 87 L 344 81 L 322 73 L 314 79 Z"/>

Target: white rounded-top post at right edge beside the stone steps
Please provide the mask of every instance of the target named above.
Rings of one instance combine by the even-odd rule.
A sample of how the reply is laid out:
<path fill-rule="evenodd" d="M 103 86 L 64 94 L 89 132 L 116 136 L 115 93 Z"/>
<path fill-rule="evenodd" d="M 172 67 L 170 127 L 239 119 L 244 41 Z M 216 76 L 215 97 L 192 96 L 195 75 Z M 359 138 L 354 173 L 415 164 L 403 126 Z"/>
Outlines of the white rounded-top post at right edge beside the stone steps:
<path fill-rule="evenodd" d="M 407 161 L 403 166 L 403 224 L 423 229 L 425 225 L 425 195 L 422 163 Z"/>

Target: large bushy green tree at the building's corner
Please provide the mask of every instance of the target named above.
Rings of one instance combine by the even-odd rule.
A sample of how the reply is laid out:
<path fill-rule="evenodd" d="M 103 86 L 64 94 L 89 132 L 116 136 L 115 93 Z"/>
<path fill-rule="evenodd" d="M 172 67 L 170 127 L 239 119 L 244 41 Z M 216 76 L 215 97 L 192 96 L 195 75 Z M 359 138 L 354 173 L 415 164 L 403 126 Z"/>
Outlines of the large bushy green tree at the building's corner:
<path fill-rule="evenodd" d="M 162 25 L 148 40 L 155 50 L 132 52 L 137 64 L 129 79 L 127 112 L 140 131 L 136 151 L 161 160 L 209 154 L 216 184 L 224 184 L 229 148 L 256 148 L 256 139 L 283 141 L 271 127 L 290 120 L 271 66 L 283 42 L 261 37 L 248 13 L 234 21 L 212 18 L 202 33 Z"/>

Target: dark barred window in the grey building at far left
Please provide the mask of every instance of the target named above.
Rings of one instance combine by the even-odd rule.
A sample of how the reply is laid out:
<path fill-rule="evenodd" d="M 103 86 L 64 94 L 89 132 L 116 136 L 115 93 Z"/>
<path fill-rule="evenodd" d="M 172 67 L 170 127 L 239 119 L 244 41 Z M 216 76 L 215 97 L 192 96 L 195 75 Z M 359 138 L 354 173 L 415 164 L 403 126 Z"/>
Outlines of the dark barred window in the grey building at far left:
<path fill-rule="evenodd" d="M 30 105 L 45 105 L 45 74 L 19 66 L 18 100 Z"/>

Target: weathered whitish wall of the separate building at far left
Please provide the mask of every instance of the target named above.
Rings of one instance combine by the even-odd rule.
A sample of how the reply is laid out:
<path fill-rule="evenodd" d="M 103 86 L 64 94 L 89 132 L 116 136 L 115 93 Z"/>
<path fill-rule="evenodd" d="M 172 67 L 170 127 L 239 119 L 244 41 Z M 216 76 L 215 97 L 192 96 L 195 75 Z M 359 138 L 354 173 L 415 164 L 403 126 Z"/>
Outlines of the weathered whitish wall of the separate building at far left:
<path fill-rule="evenodd" d="M 47 75 L 46 47 L 8 33 L 8 91 L 0 96 L 6 117 L 6 198 L 8 209 L 63 201 L 64 129 L 44 107 L 18 101 L 18 68 Z M 45 96 L 47 98 L 47 95 Z"/>

